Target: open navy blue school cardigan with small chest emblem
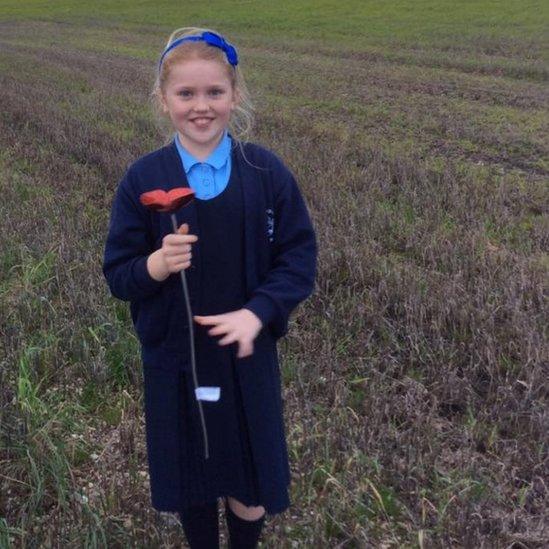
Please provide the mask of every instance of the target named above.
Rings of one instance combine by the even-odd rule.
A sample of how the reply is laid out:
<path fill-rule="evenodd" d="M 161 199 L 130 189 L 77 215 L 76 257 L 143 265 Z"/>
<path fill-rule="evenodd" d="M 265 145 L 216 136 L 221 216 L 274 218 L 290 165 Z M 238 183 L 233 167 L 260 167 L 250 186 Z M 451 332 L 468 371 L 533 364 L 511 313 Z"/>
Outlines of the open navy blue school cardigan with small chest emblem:
<path fill-rule="evenodd" d="M 285 335 L 292 310 L 313 291 L 317 241 L 307 207 L 292 173 L 264 147 L 243 143 L 231 151 L 244 198 L 247 309 L 274 341 Z M 112 204 L 103 273 L 113 296 L 130 301 L 145 363 L 163 368 L 187 364 L 179 273 L 153 279 L 147 257 L 173 231 L 170 215 L 141 205 L 141 193 L 188 186 L 175 142 L 135 161 L 120 182 Z M 178 226 L 197 227 L 194 203 L 177 213 Z M 196 233 L 194 233 L 196 234 Z M 196 261 L 193 249 L 193 260 Z M 192 268 L 192 266 L 191 266 Z M 191 300 L 192 306 L 192 300 Z M 177 312 L 175 312 L 177 309 Z M 227 311 L 228 312 L 228 311 Z M 179 366 L 178 366 L 179 365 Z"/>

